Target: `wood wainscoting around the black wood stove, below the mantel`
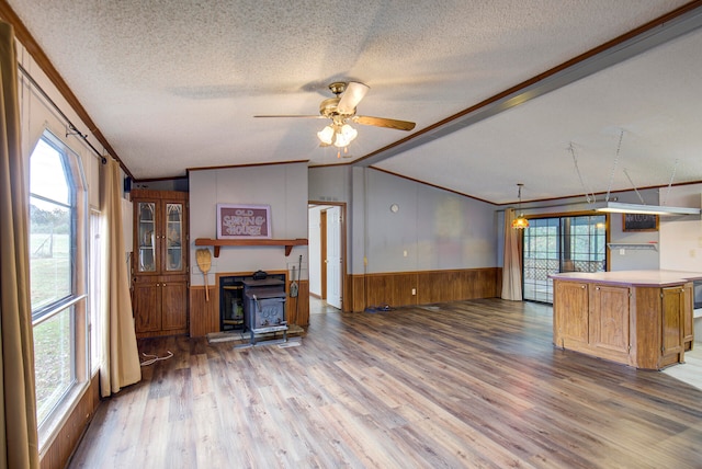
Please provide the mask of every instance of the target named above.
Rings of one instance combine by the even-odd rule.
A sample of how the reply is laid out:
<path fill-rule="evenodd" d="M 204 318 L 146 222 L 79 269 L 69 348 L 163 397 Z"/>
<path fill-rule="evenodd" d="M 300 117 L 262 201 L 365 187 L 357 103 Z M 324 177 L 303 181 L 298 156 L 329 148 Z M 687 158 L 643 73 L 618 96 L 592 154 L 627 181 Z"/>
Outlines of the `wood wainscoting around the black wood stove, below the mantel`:
<path fill-rule="evenodd" d="M 269 274 L 284 274 L 285 271 L 271 271 Z M 251 275 L 247 273 L 223 273 L 216 274 L 215 285 L 210 285 L 210 301 L 205 296 L 204 286 L 190 287 L 190 336 L 201 338 L 211 332 L 219 332 L 219 277 Z M 287 322 L 302 328 L 309 325 L 309 282 L 297 281 L 297 297 L 290 296 L 291 281 L 285 281 L 285 293 L 287 294 Z M 297 305 L 299 301 L 299 305 Z"/>

